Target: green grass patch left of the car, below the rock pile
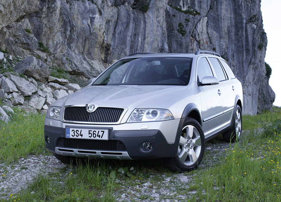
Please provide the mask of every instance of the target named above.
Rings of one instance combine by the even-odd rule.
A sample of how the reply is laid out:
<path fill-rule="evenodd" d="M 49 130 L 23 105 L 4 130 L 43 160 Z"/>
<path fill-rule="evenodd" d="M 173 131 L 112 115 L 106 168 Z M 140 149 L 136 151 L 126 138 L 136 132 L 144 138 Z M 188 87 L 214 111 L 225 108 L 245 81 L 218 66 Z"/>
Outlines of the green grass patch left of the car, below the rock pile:
<path fill-rule="evenodd" d="M 0 163 L 44 151 L 44 115 L 26 114 L 17 108 L 14 111 L 10 122 L 0 125 Z"/>

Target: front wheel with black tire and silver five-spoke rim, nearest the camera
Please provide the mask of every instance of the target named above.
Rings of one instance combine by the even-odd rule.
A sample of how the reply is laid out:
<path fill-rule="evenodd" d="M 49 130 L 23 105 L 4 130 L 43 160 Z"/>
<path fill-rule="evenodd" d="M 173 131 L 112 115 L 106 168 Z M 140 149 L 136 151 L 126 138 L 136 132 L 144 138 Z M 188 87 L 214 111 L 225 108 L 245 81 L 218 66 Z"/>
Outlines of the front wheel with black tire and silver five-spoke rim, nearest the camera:
<path fill-rule="evenodd" d="M 187 117 L 183 124 L 177 155 L 167 159 L 167 167 L 177 172 L 196 169 L 203 159 L 204 151 L 203 129 L 195 119 Z"/>

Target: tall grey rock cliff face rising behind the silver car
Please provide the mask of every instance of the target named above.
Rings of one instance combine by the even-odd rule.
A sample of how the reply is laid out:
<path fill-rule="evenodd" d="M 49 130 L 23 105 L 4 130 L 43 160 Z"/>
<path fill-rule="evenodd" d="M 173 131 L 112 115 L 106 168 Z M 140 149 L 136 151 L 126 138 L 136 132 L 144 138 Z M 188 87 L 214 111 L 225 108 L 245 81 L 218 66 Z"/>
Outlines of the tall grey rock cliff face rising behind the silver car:
<path fill-rule="evenodd" d="M 271 109 L 275 98 L 266 46 L 260 0 L 0 2 L 0 49 L 83 79 L 133 52 L 215 51 L 243 85 L 244 114 Z"/>

